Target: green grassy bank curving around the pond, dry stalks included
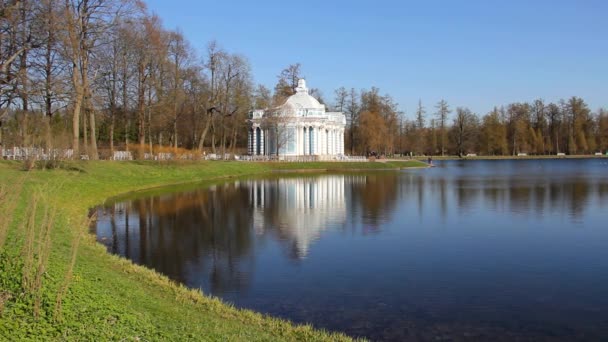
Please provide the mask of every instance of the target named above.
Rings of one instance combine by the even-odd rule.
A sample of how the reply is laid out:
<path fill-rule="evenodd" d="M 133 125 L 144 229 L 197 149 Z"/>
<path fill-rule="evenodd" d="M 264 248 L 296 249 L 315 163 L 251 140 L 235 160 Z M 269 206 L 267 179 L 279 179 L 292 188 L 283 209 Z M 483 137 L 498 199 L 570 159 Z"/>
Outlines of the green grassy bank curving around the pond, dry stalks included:
<path fill-rule="evenodd" d="M 232 308 L 106 253 L 88 233 L 88 209 L 129 191 L 276 169 L 418 165 L 88 162 L 24 172 L 2 161 L 0 340 L 348 340 Z"/>

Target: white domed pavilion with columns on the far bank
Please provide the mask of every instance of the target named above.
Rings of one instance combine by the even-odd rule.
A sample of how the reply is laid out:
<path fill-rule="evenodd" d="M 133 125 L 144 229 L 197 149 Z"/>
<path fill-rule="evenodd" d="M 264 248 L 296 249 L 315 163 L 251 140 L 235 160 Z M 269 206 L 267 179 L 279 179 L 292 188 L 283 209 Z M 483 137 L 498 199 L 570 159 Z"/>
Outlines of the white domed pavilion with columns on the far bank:
<path fill-rule="evenodd" d="M 325 105 L 308 93 L 306 81 L 298 81 L 296 93 L 271 109 L 249 113 L 249 154 L 318 156 L 319 159 L 344 154 L 344 126 L 341 112 L 327 112 Z"/>

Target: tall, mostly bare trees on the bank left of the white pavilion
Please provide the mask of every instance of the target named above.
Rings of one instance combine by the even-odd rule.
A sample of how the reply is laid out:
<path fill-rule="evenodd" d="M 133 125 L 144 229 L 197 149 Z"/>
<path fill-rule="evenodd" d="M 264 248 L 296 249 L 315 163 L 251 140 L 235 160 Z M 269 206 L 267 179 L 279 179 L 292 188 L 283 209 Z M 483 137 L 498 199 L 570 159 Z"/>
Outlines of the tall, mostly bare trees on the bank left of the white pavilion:
<path fill-rule="evenodd" d="M 225 152 L 243 144 L 253 81 L 217 42 L 201 58 L 140 1 L 4 0 L 0 143 Z"/>

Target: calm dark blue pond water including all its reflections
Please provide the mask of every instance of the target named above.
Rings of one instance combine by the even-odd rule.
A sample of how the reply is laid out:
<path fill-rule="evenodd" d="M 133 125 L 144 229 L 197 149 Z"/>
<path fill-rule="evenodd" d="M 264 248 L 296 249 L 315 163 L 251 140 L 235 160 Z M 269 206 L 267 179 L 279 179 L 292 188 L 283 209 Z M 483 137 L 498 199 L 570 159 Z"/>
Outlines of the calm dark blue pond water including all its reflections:
<path fill-rule="evenodd" d="M 373 340 L 608 339 L 608 161 L 227 181 L 99 209 L 112 253 Z"/>

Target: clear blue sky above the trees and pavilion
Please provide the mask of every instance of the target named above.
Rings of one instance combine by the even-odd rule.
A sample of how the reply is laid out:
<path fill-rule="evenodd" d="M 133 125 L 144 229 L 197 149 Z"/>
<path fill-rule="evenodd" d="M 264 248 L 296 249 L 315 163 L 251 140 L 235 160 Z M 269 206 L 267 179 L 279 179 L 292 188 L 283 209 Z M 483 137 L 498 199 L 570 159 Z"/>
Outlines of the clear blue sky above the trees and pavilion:
<path fill-rule="evenodd" d="M 608 1 L 146 0 L 202 54 L 215 39 L 274 86 L 301 63 L 309 87 L 372 86 L 408 117 L 445 98 L 485 114 L 494 105 L 573 95 L 608 107 Z"/>

